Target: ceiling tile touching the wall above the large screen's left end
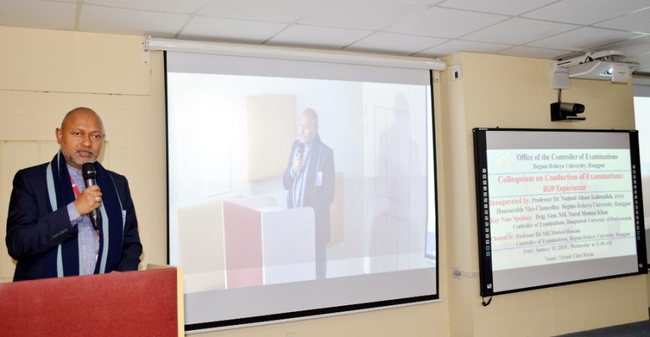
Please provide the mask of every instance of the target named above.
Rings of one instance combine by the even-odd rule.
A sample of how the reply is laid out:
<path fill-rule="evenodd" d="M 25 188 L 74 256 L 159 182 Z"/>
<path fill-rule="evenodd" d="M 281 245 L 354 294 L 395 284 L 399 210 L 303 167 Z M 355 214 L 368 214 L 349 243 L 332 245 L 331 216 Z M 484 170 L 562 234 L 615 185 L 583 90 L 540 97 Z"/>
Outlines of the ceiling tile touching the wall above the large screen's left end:
<path fill-rule="evenodd" d="M 79 29 L 88 32 L 173 37 L 187 18 L 188 14 L 85 5 L 81 10 Z"/>

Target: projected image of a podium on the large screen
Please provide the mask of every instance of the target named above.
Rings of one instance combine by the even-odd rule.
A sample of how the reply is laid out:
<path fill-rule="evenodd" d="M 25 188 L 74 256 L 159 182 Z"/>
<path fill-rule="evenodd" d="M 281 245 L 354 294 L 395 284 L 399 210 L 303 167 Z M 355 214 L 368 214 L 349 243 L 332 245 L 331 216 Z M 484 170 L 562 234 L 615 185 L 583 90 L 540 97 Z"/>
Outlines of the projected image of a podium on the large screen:
<path fill-rule="evenodd" d="M 275 206 L 272 197 L 223 202 L 227 288 L 315 279 L 311 208 Z"/>

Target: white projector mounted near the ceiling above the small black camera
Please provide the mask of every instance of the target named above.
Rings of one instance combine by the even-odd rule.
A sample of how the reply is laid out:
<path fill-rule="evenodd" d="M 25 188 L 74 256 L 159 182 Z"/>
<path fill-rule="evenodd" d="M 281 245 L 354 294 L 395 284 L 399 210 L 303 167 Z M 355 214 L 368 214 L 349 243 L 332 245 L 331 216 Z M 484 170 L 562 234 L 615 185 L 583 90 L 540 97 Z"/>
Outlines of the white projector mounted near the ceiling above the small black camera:
<path fill-rule="evenodd" d="M 567 60 L 551 63 L 551 80 L 554 89 L 569 89 L 569 78 L 611 80 L 627 83 L 639 63 L 623 62 L 624 51 L 597 51 Z"/>

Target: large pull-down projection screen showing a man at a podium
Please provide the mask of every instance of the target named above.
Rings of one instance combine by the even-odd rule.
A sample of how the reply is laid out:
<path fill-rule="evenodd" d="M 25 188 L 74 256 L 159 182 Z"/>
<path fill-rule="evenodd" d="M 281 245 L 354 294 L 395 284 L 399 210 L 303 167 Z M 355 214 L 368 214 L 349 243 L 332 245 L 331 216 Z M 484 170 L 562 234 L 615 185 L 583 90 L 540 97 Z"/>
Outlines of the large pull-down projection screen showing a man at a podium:
<path fill-rule="evenodd" d="M 437 299 L 429 70 L 180 52 L 165 65 L 186 330 Z"/>

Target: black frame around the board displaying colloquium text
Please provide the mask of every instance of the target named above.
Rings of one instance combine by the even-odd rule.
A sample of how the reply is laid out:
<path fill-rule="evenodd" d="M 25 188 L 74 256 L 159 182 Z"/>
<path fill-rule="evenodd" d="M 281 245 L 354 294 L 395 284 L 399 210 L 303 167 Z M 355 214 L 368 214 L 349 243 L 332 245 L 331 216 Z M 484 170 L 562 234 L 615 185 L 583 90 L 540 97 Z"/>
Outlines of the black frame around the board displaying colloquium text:
<path fill-rule="evenodd" d="M 643 202 L 642 202 L 642 186 L 641 186 L 641 170 L 639 165 L 639 141 L 638 132 L 636 130 L 614 130 L 614 129 L 526 129 L 526 128 L 490 128 L 490 127 L 476 127 L 473 130 L 474 141 L 474 165 L 475 165 L 475 197 L 476 197 L 476 210 L 477 210 L 477 241 L 479 252 L 479 267 L 480 267 L 480 295 L 483 297 L 492 295 L 501 295 L 506 293 L 515 293 L 519 291 L 529 291 L 539 288 L 549 288 L 554 286 L 563 286 L 567 284 L 577 284 L 587 281 L 597 281 L 601 279 L 612 279 L 620 276 L 632 276 L 638 274 L 646 274 L 648 272 L 647 256 L 646 256 L 646 238 L 644 234 L 644 215 L 643 215 Z M 555 281 L 548 284 L 539 284 L 535 286 L 524 286 L 520 288 L 509 288 L 501 291 L 494 290 L 492 269 L 492 252 L 490 245 L 492 243 L 492 211 L 490 210 L 490 196 L 489 196 L 489 177 L 488 163 L 487 163 L 487 132 L 539 132 L 544 134 L 546 132 L 568 132 L 569 134 L 580 133 L 620 133 L 629 134 L 629 151 L 632 167 L 631 178 L 636 181 L 633 184 L 632 190 L 636 193 L 638 200 L 638 207 L 636 209 L 636 257 L 638 268 L 635 272 L 626 272 L 622 274 L 608 274 L 605 276 L 589 277 L 585 279 L 572 279 L 567 281 Z M 539 148 L 544 148 L 540 146 Z M 489 234 L 487 237 L 485 234 Z M 595 261 L 601 261 L 596 259 Z M 559 263 L 556 265 L 571 265 L 571 262 Z M 549 265 L 546 265 L 549 266 Z M 553 266 L 553 265 L 550 265 Z"/>

